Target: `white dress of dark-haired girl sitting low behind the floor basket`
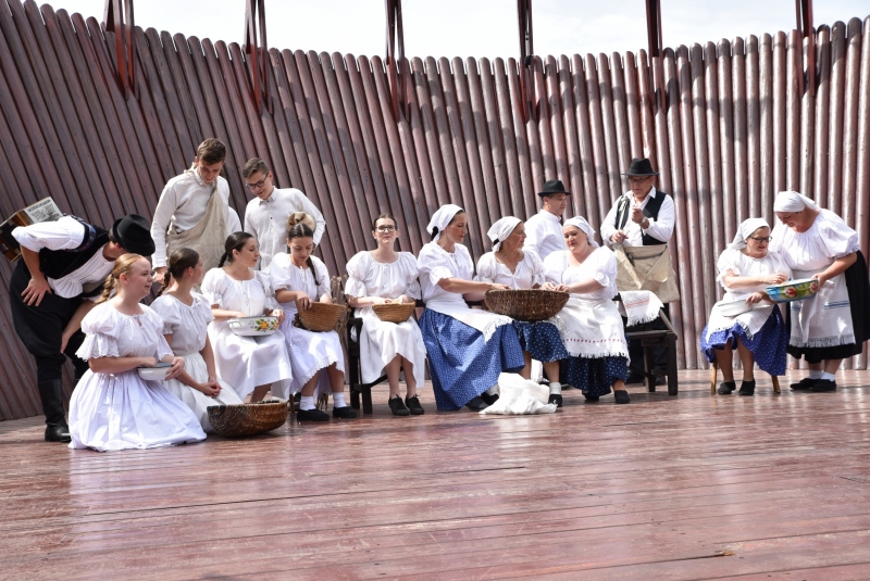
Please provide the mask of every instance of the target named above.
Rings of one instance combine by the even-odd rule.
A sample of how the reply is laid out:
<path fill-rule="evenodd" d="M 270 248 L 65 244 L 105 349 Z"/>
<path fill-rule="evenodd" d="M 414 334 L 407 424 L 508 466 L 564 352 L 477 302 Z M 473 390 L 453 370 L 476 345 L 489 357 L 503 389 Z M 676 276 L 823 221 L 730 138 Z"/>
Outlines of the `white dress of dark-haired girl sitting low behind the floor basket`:
<path fill-rule="evenodd" d="M 209 337 L 209 323 L 214 320 L 209 301 L 198 293 L 192 293 L 194 304 L 186 305 L 171 294 L 158 296 L 151 308 L 163 319 L 163 334 L 172 336 L 172 351 L 177 357 L 184 357 L 184 370 L 195 381 L 204 383 L 209 380 L 209 368 L 200 351 L 206 349 L 206 339 Z M 209 397 L 190 386 L 185 386 L 177 379 L 165 382 L 166 388 L 196 414 L 200 426 L 207 433 L 212 432 L 209 421 L 210 405 L 240 404 L 241 399 L 225 381 L 221 383 L 221 393 L 216 397 Z"/>

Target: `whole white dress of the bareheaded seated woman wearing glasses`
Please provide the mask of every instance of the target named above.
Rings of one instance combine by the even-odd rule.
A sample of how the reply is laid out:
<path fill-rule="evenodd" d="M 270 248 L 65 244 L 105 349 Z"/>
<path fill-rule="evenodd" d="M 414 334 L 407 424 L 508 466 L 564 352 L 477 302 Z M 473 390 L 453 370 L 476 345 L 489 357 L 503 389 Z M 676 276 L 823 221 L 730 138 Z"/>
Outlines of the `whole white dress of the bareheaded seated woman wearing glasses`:
<path fill-rule="evenodd" d="M 347 274 L 345 293 L 348 296 L 398 299 L 405 294 L 420 299 L 417 258 L 410 252 L 399 252 L 394 263 L 380 263 L 369 252 L 360 252 L 347 263 Z M 371 306 L 357 308 L 356 313 L 363 319 L 362 337 L 359 338 L 362 381 L 375 381 L 384 374 L 384 367 L 396 355 L 401 355 L 413 365 L 414 380 L 422 388 L 426 346 L 413 317 L 395 324 L 377 318 Z"/>

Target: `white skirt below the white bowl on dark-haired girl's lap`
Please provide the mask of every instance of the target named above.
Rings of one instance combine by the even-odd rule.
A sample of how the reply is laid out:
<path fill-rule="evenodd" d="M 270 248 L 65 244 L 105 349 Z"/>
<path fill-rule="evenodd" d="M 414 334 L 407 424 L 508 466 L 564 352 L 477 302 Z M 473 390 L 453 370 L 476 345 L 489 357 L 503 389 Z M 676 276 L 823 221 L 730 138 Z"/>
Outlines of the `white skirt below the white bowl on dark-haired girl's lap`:
<path fill-rule="evenodd" d="M 289 380 L 294 376 L 281 331 L 264 337 L 239 337 L 226 321 L 213 321 L 209 324 L 209 339 L 217 377 L 241 400 L 257 386 Z M 286 399 L 287 394 L 283 392 L 281 396 Z"/>

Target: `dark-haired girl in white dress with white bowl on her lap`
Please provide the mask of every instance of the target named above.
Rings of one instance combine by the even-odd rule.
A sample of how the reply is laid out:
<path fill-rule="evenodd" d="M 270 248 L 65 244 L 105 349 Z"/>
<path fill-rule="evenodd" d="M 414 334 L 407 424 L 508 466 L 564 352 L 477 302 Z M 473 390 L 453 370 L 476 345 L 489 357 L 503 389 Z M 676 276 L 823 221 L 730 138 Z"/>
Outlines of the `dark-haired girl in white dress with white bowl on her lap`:
<path fill-rule="evenodd" d="M 259 258 L 257 240 L 247 232 L 235 232 L 226 239 L 220 266 L 206 273 L 202 280 L 202 294 L 214 315 L 209 339 L 217 377 L 246 402 L 262 401 L 273 383 L 281 391 L 278 395 L 286 399 L 288 394 L 279 387 L 293 378 L 281 331 L 240 337 L 227 323 L 235 317 L 260 315 L 284 319 L 269 275 L 253 270 Z"/>

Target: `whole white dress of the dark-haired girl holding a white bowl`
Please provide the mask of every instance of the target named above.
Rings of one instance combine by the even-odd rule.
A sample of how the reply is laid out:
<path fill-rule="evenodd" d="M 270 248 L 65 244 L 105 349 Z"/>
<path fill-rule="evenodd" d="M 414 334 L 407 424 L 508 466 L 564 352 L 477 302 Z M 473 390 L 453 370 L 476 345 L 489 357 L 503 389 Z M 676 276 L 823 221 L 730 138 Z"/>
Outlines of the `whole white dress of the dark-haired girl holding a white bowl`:
<path fill-rule="evenodd" d="M 202 294 L 212 306 L 240 311 L 249 317 L 262 315 L 266 308 L 278 308 L 269 275 L 252 273 L 254 276 L 249 280 L 235 280 L 223 268 L 212 268 L 202 280 Z M 257 386 L 293 378 L 279 330 L 265 337 L 239 337 L 226 320 L 213 320 L 209 324 L 209 339 L 217 377 L 243 400 Z M 287 399 L 287 392 L 279 386 L 283 383 L 272 386 L 273 393 L 277 389 L 279 393 L 275 394 Z"/>

